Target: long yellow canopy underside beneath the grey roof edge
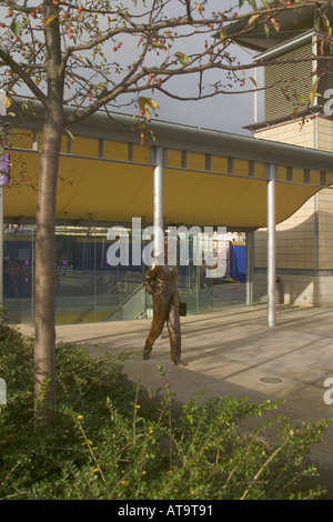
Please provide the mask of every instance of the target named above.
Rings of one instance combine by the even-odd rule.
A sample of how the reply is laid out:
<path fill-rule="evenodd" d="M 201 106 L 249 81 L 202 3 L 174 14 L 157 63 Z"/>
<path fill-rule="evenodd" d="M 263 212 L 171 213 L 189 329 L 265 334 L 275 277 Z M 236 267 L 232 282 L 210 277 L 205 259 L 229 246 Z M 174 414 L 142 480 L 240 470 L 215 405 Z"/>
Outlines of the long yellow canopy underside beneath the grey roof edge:
<path fill-rule="evenodd" d="M 202 132 L 204 138 L 206 131 Z M 40 152 L 33 150 L 31 131 L 20 130 L 17 135 L 19 138 L 13 139 L 11 148 L 13 181 L 4 190 L 4 220 L 23 218 L 28 221 L 36 217 Z M 253 154 L 246 160 L 246 151 L 242 145 L 244 137 L 232 138 L 235 141 L 239 138 L 239 153 L 242 154 L 241 158 L 236 157 L 236 147 L 231 150 L 232 169 L 229 154 L 218 155 L 212 151 L 208 154 L 203 145 L 199 152 L 195 152 L 196 145 L 193 142 L 192 150 L 189 150 L 188 143 L 179 143 L 179 150 L 175 147 L 165 148 L 165 223 L 238 228 L 266 225 L 266 178 L 265 161 L 262 159 L 266 157 L 266 152 L 261 153 L 261 151 L 272 147 L 272 143 L 246 138 L 244 143 L 251 140 L 250 144 L 254 147 L 255 143 L 261 153 L 254 151 L 254 154 L 258 154 L 258 161 Z M 92 219 L 94 222 L 122 223 L 130 222 L 132 218 L 145 217 L 147 222 L 152 222 L 154 164 L 150 162 L 151 150 L 138 143 L 130 143 L 129 159 L 128 142 L 103 140 L 102 154 L 99 149 L 100 143 L 98 137 L 77 135 L 69 150 L 68 140 L 63 139 L 57 219 L 79 221 Z M 286 148 L 284 154 L 283 147 Z M 305 182 L 304 169 L 299 168 L 300 162 L 296 158 L 300 148 L 292 148 L 295 150 L 294 157 L 291 154 L 293 152 L 290 151 L 292 145 L 282 145 L 282 149 L 276 152 L 283 159 L 281 165 L 278 167 L 276 174 L 278 223 L 293 214 L 323 185 L 320 181 L 323 163 L 313 163 L 319 167 L 315 171 L 311 170 L 307 173 Z M 182 153 L 184 150 L 185 162 Z M 216 152 L 219 152 L 218 149 Z M 325 157 L 316 155 L 314 160 L 323 158 L 326 161 L 327 153 L 323 154 Z M 295 158 L 292 182 L 287 181 L 286 155 L 289 164 L 292 164 L 290 158 Z M 300 158 L 303 157 L 300 155 Z M 306 163 L 306 158 L 304 162 Z M 333 164 L 332 161 L 331 164 Z M 14 180 L 22 171 L 27 171 L 28 180 L 23 184 L 16 185 Z M 332 183 L 333 174 L 326 172 L 325 185 Z"/>

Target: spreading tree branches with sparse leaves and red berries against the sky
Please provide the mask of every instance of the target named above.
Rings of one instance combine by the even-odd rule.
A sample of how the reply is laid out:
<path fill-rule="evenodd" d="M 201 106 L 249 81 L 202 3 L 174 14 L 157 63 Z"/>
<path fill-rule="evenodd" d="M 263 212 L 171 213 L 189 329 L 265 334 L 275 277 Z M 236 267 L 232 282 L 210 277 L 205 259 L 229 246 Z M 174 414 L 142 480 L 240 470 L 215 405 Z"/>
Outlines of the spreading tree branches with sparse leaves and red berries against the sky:
<path fill-rule="evenodd" d="M 279 32 L 279 17 L 287 9 L 313 6 L 330 31 L 326 3 L 240 0 L 221 10 L 214 0 L 2 0 L 0 84 L 9 94 L 28 87 L 48 107 L 56 76 L 53 89 L 58 83 L 62 102 L 75 109 L 65 124 L 105 104 L 134 103 L 149 117 L 152 104 L 158 109 L 157 101 L 143 101 L 151 93 L 193 99 L 226 92 L 233 82 L 244 86 L 245 70 L 253 66 L 238 61 L 233 39 L 255 26 L 263 26 L 268 37 Z M 238 12 L 244 7 L 245 13 Z M 235 21 L 244 23 L 230 29 Z M 219 73 L 206 86 L 204 73 L 212 69 Z M 172 78 L 189 74 L 196 76 L 196 92 L 180 93 L 174 82 L 169 88 Z"/>

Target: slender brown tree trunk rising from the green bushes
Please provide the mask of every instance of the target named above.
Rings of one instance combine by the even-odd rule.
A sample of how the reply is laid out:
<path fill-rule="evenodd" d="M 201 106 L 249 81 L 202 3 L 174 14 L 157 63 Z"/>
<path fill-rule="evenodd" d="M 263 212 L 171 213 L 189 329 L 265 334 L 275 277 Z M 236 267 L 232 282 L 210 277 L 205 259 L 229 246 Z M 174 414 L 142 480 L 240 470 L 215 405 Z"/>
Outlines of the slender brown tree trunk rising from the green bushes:
<path fill-rule="evenodd" d="M 48 424 L 56 406 L 56 202 L 62 107 L 47 109 L 40 158 L 37 205 L 34 287 L 34 393 L 36 416 Z"/>

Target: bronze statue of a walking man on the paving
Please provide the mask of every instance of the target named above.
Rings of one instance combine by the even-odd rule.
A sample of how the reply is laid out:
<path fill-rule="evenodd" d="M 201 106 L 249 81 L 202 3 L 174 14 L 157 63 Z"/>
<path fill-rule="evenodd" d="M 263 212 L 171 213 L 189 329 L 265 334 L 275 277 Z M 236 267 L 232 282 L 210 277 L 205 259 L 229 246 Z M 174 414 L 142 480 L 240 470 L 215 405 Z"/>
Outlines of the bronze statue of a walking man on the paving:
<path fill-rule="evenodd" d="M 154 262 L 145 272 L 143 284 L 148 293 L 152 295 L 153 319 L 148 334 L 143 359 L 149 359 L 153 343 L 159 338 L 167 321 L 171 362 L 185 365 L 181 360 L 181 328 L 180 328 L 180 297 L 176 288 L 178 268 L 168 267 L 168 247 L 164 242 L 164 264 Z"/>

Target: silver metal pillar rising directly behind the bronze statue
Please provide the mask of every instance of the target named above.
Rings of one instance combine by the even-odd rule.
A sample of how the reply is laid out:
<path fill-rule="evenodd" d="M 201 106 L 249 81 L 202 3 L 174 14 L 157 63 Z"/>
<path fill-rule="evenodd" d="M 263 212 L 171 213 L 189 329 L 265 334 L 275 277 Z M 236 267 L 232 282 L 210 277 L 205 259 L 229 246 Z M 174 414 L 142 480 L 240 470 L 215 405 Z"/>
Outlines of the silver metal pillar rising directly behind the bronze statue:
<path fill-rule="evenodd" d="M 155 168 L 153 181 L 153 227 L 154 237 L 154 254 L 158 258 L 163 252 L 163 159 L 164 151 L 162 147 L 155 149 Z"/>

